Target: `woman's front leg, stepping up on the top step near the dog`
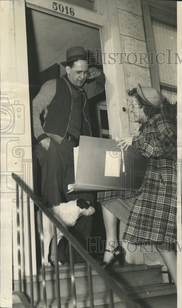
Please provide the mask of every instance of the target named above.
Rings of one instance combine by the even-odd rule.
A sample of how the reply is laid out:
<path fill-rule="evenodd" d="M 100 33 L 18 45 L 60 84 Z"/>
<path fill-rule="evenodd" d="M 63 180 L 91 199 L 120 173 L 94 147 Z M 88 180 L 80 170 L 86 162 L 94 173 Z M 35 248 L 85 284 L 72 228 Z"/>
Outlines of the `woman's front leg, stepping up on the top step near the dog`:
<path fill-rule="evenodd" d="M 106 229 L 106 249 L 113 251 L 117 246 L 116 226 L 117 217 L 114 216 L 102 205 L 103 220 Z M 109 252 L 104 253 L 104 262 L 109 263 L 113 259 L 113 254 Z"/>

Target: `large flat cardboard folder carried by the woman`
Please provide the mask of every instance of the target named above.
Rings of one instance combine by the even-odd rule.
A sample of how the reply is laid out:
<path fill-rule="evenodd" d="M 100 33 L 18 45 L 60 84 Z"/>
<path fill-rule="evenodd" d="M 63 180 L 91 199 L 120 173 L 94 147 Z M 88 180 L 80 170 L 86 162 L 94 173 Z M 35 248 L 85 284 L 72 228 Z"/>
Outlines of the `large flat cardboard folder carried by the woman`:
<path fill-rule="evenodd" d="M 75 184 L 68 189 L 135 190 L 141 186 L 146 169 L 146 157 L 134 148 L 125 152 L 115 140 L 80 136 Z"/>

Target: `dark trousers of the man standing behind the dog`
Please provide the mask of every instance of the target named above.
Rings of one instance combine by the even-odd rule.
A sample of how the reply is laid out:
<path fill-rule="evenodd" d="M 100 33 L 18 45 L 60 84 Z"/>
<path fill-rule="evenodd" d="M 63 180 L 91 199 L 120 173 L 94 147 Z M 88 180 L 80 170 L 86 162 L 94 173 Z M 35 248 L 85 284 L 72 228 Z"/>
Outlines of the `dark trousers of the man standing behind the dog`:
<path fill-rule="evenodd" d="M 63 193 L 67 202 L 76 199 L 85 199 L 86 201 L 89 201 L 92 206 L 94 206 L 94 197 L 92 193 L 67 194 L 68 184 L 75 182 L 73 154 L 74 146 L 75 144 L 73 141 L 64 139 L 59 144 L 51 138 L 50 145 L 45 153 L 45 156 L 39 158 L 42 173 L 42 197 L 46 199 L 46 205 L 48 207 L 50 205 L 59 205 L 63 202 Z M 88 217 L 81 216 L 76 222 L 76 225 L 69 229 L 70 233 L 74 235 L 74 237 L 83 245 L 85 249 L 87 248 L 87 240 L 85 237 L 90 236 L 91 226 L 92 215 Z M 68 243 L 64 252 L 62 246 L 63 241 L 60 241 L 58 245 L 59 261 L 69 261 Z M 82 260 L 83 258 L 81 255 L 74 250 L 74 262 L 77 263 Z"/>

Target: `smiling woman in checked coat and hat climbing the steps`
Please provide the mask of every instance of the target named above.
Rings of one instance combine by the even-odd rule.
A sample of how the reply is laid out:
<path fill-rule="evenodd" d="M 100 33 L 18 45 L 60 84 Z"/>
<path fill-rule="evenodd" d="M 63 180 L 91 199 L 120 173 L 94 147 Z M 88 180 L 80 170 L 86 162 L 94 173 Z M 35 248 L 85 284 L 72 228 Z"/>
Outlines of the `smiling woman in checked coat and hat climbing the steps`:
<path fill-rule="evenodd" d="M 98 193 L 98 201 L 103 201 L 107 240 L 101 266 L 106 268 L 116 260 L 122 264 L 123 253 L 117 244 L 116 222 L 117 217 L 121 219 L 124 206 L 130 213 L 123 240 L 148 241 L 155 245 L 160 242 L 159 252 L 176 285 L 176 253 L 168 250 L 168 245 L 176 241 L 175 128 L 168 121 L 158 91 L 138 84 L 137 88 L 128 91 L 128 95 L 132 97 L 134 120 L 141 124 L 139 135 L 121 138 L 116 143 L 125 151 L 129 146 L 136 148 L 149 158 L 149 165 L 141 187 L 133 196 L 131 192 L 121 192 L 120 198 L 115 200 L 118 202 L 112 203 L 103 200 L 107 200 L 108 195 L 110 199 L 112 196 L 116 198 L 116 192 Z M 125 199 L 127 197 L 129 199 Z"/>

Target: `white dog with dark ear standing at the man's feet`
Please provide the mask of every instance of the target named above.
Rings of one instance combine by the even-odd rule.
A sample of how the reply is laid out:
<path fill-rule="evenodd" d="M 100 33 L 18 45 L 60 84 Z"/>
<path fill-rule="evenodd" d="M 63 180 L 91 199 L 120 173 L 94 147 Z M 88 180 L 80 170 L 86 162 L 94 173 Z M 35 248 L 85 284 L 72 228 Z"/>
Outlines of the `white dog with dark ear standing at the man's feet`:
<path fill-rule="evenodd" d="M 77 219 L 84 215 L 90 216 L 95 213 L 95 209 L 90 205 L 88 201 L 84 199 L 77 199 L 75 201 L 69 201 L 68 203 L 60 203 L 59 205 L 52 206 L 49 211 L 55 216 L 65 227 L 71 227 L 76 224 Z M 40 236 L 40 213 L 37 213 L 37 225 L 38 232 Z M 48 253 L 49 253 L 49 244 L 53 238 L 53 224 L 49 220 L 49 218 L 42 213 L 42 221 L 43 221 L 43 237 L 44 237 L 44 262 L 45 266 L 51 266 L 51 263 L 48 262 Z M 57 245 L 60 239 L 63 237 L 63 233 L 57 229 Z M 53 240 L 52 240 L 53 242 Z M 52 247 L 54 247 L 52 243 Z M 53 249 L 52 249 L 53 251 Z M 51 256 L 52 263 L 54 263 L 53 253 Z M 59 262 L 59 265 L 62 263 Z"/>

